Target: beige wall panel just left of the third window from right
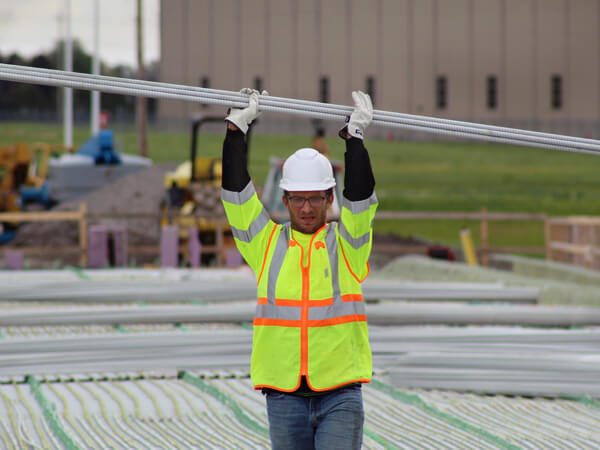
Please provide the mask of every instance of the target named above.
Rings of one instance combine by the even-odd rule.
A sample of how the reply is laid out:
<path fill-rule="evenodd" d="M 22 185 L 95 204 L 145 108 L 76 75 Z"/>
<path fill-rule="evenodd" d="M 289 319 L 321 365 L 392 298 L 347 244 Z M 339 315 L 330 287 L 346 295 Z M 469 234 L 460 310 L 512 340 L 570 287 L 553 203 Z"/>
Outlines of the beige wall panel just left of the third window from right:
<path fill-rule="evenodd" d="M 435 75 L 433 65 L 433 0 L 412 2 L 411 18 L 413 38 L 411 39 L 410 60 L 411 90 L 414 92 L 415 114 L 437 113 L 435 107 Z"/>

